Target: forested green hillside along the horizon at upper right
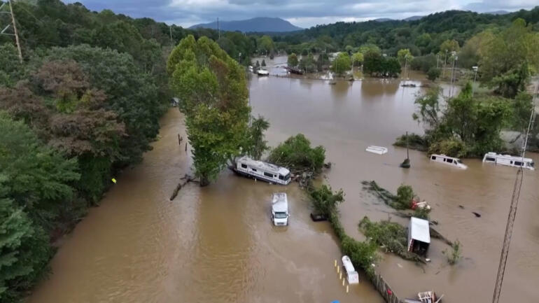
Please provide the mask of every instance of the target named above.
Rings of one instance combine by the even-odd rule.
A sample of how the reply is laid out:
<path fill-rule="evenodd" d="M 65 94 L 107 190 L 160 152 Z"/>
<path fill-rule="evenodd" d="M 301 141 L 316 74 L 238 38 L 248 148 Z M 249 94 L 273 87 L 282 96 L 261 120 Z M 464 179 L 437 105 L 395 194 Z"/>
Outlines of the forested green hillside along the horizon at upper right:
<path fill-rule="evenodd" d="M 533 24 L 539 30 L 539 7 L 519 10 L 505 15 L 448 10 L 414 21 L 337 22 L 317 25 L 297 34 L 273 36 L 278 50 L 289 54 L 307 55 L 309 52 L 355 52 L 361 45 L 374 44 L 390 56 L 408 48 L 412 55 L 427 55 L 442 50 L 444 41 L 456 41 L 463 46 L 472 36 L 486 29 L 509 27 L 517 18 Z"/>

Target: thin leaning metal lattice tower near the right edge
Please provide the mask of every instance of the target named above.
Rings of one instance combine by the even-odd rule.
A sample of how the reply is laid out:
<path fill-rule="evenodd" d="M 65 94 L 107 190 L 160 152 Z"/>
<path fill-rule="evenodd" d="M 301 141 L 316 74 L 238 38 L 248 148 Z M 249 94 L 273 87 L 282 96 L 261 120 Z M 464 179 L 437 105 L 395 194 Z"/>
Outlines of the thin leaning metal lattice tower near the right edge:
<path fill-rule="evenodd" d="M 531 129 L 533 129 L 533 122 L 535 122 L 535 96 L 537 96 L 539 90 L 539 84 L 535 86 L 535 93 L 533 94 L 533 106 L 531 109 L 530 122 L 528 123 L 528 132 L 526 132 L 526 139 L 524 139 L 524 145 L 522 146 L 522 162 L 524 163 L 524 155 L 526 154 L 526 145 L 528 144 L 528 136 Z M 524 177 L 524 171 L 522 167 L 517 171 L 517 178 L 514 180 L 513 196 L 511 199 L 511 205 L 509 209 L 509 216 L 507 217 L 507 226 L 505 227 L 505 237 L 503 238 L 502 253 L 500 255 L 500 265 L 498 265 L 498 275 L 496 276 L 496 286 L 494 287 L 494 295 L 492 297 L 492 303 L 498 303 L 500 301 L 500 293 L 502 290 L 503 274 L 505 274 L 505 265 L 507 264 L 507 255 L 509 254 L 509 245 L 511 243 L 511 234 L 513 232 L 514 218 L 517 216 L 517 206 L 519 204 L 520 188 L 522 186 L 522 178 Z"/>

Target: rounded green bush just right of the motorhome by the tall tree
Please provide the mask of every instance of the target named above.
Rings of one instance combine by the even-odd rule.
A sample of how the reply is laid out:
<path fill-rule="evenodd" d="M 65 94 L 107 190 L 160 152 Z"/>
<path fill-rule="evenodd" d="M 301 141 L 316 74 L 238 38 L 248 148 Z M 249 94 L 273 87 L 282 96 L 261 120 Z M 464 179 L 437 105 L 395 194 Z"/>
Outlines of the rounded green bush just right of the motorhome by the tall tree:
<path fill-rule="evenodd" d="M 303 134 L 297 134 L 274 148 L 268 160 L 293 172 L 318 172 L 324 164 L 325 149 L 322 146 L 311 148 L 311 142 Z"/>

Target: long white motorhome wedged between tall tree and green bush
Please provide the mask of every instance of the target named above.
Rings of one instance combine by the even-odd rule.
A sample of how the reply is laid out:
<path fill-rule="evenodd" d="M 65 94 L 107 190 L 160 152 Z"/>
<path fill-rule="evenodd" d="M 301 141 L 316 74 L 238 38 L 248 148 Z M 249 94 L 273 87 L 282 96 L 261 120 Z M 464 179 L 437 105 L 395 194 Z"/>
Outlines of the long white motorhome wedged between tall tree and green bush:
<path fill-rule="evenodd" d="M 248 176 L 255 180 L 281 185 L 290 183 L 290 171 L 288 169 L 275 164 L 253 160 L 247 156 L 241 157 L 236 161 L 234 171 L 237 174 Z"/>

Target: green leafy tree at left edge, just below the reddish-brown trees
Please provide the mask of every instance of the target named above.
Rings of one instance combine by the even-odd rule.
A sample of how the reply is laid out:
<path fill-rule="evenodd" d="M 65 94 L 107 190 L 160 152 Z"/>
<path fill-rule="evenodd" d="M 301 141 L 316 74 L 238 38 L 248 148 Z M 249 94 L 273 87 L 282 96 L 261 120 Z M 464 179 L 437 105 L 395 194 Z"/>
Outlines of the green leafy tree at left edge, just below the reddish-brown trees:
<path fill-rule="evenodd" d="M 59 202 L 73 197 L 70 183 L 80 178 L 76 159 L 65 160 L 43 146 L 27 125 L 5 113 L 0 113 L 0 167 L 6 197 L 48 228 L 62 208 Z"/>

